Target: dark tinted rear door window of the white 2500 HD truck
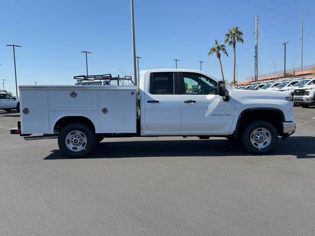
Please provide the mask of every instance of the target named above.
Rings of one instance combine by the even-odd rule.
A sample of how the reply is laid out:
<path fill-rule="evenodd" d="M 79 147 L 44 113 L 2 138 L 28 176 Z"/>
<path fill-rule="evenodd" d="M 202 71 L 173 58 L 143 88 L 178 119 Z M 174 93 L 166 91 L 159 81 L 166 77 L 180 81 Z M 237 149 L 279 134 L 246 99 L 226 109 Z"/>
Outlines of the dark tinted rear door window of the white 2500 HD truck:
<path fill-rule="evenodd" d="M 151 94 L 174 94 L 174 73 L 157 72 L 150 78 Z"/>

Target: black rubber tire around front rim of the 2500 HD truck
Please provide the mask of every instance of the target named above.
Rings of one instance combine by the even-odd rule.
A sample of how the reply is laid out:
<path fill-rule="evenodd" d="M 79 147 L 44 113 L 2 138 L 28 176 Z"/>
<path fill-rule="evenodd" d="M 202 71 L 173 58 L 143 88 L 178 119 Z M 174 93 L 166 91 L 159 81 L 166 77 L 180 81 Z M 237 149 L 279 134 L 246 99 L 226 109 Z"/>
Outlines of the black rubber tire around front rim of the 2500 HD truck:
<path fill-rule="evenodd" d="M 257 148 L 251 142 L 252 132 L 256 129 L 263 128 L 269 131 L 268 135 L 270 135 L 269 145 L 264 148 Z M 251 153 L 266 153 L 273 149 L 278 142 L 278 131 L 275 126 L 265 120 L 254 120 L 250 123 L 247 123 L 246 126 L 242 129 L 241 133 L 241 142 L 243 147 Z"/>

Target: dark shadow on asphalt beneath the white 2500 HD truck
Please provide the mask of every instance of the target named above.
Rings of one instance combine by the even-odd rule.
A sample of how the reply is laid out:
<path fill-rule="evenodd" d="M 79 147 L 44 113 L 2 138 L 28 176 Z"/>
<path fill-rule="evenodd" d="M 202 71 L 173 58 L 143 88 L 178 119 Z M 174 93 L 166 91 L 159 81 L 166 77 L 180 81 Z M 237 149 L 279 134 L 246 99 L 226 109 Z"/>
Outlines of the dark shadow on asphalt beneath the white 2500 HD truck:
<path fill-rule="evenodd" d="M 97 144 L 95 151 L 85 158 L 129 158 L 164 156 L 251 156 L 240 143 L 229 140 L 148 140 L 114 141 Z M 315 137 L 293 136 L 278 140 L 276 148 L 261 156 L 293 155 L 296 158 L 315 158 Z M 45 160 L 73 159 L 60 150 L 53 150 Z"/>

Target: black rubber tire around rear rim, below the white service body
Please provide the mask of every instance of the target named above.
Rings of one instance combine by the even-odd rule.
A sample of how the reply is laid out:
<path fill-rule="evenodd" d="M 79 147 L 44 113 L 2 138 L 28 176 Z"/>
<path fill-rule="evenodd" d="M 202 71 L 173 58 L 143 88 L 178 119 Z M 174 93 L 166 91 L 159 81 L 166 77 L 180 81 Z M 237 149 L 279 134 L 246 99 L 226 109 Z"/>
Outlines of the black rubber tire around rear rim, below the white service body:
<path fill-rule="evenodd" d="M 80 151 L 70 150 L 66 145 L 66 137 L 70 134 L 71 131 L 80 131 L 84 134 L 83 137 L 86 138 L 86 145 Z M 88 156 L 95 148 L 96 137 L 94 130 L 83 123 L 73 123 L 68 124 L 60 131 L 58 136 L 58 146 L 62 150 L 62 152 L 69 157 L 86 157 Z"/>

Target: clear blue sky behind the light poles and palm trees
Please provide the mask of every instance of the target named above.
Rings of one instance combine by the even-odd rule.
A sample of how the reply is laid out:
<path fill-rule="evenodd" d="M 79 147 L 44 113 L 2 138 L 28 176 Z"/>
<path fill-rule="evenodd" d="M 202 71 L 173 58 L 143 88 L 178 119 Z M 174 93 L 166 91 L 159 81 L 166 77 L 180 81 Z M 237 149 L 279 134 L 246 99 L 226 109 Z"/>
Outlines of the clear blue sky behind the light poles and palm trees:
<path fill-rule="evenodd" d="M 223 43 L 228 28 L 239 26 L 244 45 L 237 45 L 239 81 L 252 75 L 254 39 L 252 21 L 259 16 L 261 28 L 259 73 L 283 69 L 284 41 L 287 44 L 287 67 L 300 55 L 301 8 L 305 8 L 304 65 L 315 62 L 314 0 L 134 0 L 136 51 L 143 57 L 140 69 L 198 69 L 221 76 L 216 57 L 207 57 L 214 40 Z M 220 10 L 220 11 L 219 11 Z M 298 18 L 298 19 L 295 19 Z M 85 57 L 91 51 L 89 74 L 132 71 L 129 0 L 14 0 L 2 1 L 0 14 L 0 79 L 13 91 L 14 66 L 11 47 L 16 49 L 18 84 L 74 84 L 73 76 L 85 74 Z M 263 37 L 262 37 L 263 36 Z M 265 45 L 262 47 L 262 45 Z M 232 80 L 233 51 L 222 59 L 228 81 Z M 267 52 L 268 50 L 268 52 Z M 300 65 L 300 58 L 295 59 Z M 266 69 L 265 69 L 266 67 Z M 2 82 L 2 81 L 0 81 Z M 0 84 L 2 89 L 2 83 Z"/>

